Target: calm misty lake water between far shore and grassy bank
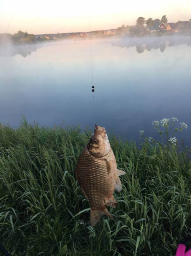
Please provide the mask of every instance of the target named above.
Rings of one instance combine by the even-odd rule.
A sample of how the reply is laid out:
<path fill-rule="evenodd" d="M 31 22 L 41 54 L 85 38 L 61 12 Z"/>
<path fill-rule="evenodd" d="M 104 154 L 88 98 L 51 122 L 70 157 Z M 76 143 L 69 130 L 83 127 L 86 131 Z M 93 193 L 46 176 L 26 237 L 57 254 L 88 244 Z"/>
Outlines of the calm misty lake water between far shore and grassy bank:
<path fill-rule="evenodd" d="M 191 146 L 191 37 L 89 40 L 0 47 L 0 122 L 94 124 L 128 140 L 158 138 L 152 121 L 177 117 Z M 94 108 L 95 101 L 95 108 Z M 179 134 L 179 135 L 178 135 Z"/>

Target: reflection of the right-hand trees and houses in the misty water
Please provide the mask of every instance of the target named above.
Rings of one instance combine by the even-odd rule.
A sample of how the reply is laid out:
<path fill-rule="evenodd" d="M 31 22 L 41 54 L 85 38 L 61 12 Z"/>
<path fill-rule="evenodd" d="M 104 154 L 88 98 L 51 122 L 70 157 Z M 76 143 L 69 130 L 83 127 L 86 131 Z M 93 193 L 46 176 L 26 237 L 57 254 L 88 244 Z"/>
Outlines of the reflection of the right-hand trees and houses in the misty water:
<path fill-rule="evenodd" d="M 129 48 L 136 46 L 136 51 L 142 53 L 145 50 L 151 51 L 152 49 L 160 49 L 164 52 L 166 47 L 175 46 L 180 44 L 191 45 L 190 36 L 169 36 L 169 37 L 143 37 L 143 38 L 124 38 L 120 41 L 113 42 L 112 45 L 122 48 Z"/>

